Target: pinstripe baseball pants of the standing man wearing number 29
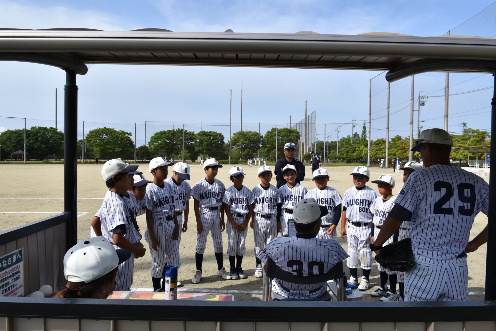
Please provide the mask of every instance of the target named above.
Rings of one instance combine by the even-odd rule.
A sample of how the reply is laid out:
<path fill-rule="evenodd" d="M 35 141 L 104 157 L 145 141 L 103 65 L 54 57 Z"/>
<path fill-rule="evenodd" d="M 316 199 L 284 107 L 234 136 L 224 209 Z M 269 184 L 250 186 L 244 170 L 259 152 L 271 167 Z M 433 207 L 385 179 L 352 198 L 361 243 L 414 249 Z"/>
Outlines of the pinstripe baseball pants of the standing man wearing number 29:
<path fill-rule="evenodd" d="M 467 301 L 467 258 L 436 261 L 415 255 L 405 272 L 405 301 Z"/>

